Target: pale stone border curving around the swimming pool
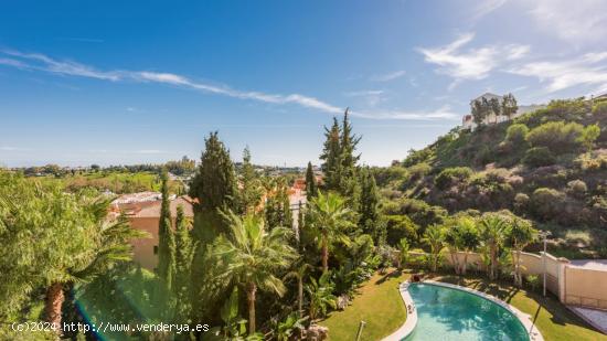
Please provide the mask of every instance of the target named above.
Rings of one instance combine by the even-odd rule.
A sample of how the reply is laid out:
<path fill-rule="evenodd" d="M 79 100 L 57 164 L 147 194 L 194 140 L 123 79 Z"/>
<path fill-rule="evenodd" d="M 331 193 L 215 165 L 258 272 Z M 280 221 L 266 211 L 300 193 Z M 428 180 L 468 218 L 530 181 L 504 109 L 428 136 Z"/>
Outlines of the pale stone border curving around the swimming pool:
<path fill-rule="evenodd" d="M 470 289 L 470 288 L 466 288 L 466 287 L 461 287 L 461 286 L 457 286 L 457 285 L 452 285 L 452 284 L 448 284 L 448 283 L 441 283 L 441 281 L 436 281 L 436 280 L 424 280 L 422 283 L 432 284 L 432 285 L 435 285 L 435 286 L 447 287 L 447 288 L 457 289 L 457 290 L 462 290 L 462 291 L 466 291 L 466 292 L 469 292 L 469 294 L 472 294 L 472 295 L 480 296 L 480 297 L 482 297 L 487 300 L 490 300 L 490 301 L 492 301 L 497 305 L 500 305 L 501 307 L 503 307 L 508 311 L 512 312 L 512 315 L 514 315 L 521 321 L 521 323 L 523 324 L 523 327 L 528 331 L 529 339 L 531 341 L 544 341 L 544 337 L 542 337 L 542 333 L 537 330 L 537 328 L 535 328 L 535 324 L 533 323 L 533 320 L 532 320 L 530 315 L 522 312 L 521 310 L 514 308 L 513 306 L 502 301 L 501 299 L 499 299 L 497 297 L 493 297 L 491 295 L 487 295 L 484 292 L 480 292 L 480 291 L 475 290 L 475 289 Z M 403 340 L 404 338 L 406 338 L 408 334 L 411 334 L 413 332 L 413 330 L 415 329 L 415 326 L 417 324 L 417 309 L 415 308 L 415 303 L 413 302 L 413 298 L 408 294 L 409 284 L 411 283 L 407 280 L 407 281 L 404 281 L 403 284 L 401 284 L 401 286 L 398 287 L 398 290 L 401 291 L 401 297 L 403 298 L 403 301 L 405 302 L 405 307 L 407 307 L 407 320 L 405 321 L 405 323 L 397 331 L 392 333 L 390 337 L 384 338 L 382 341 L 400 341 L 400 340 Z"/>

